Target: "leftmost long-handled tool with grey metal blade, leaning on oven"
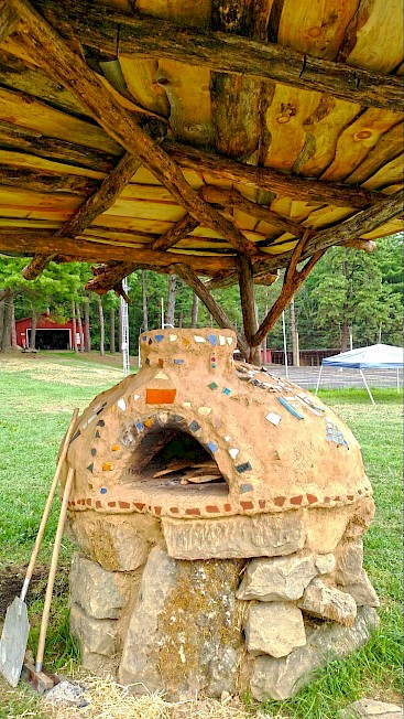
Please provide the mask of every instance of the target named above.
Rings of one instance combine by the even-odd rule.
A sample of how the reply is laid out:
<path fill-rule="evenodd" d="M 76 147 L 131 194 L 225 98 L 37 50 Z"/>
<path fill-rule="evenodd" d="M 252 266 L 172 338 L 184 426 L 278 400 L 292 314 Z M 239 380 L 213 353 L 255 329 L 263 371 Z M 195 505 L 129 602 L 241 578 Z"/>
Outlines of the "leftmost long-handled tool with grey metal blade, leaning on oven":
<path fill-rule="evenodd" d="M 53 497 L 59 481 L 63 463 L 66 459 L 68 446 L 74 432 L 78 416 L 78 409 L 75 409 L 67 430 L 62 452 L 57 462 L 55 476 L 53 479 L 50 493 L 46 500 L 45 508 L 42 515 L 40 528 L 32 550 L 30 564 L 26 569 L 24 583 L 21 595 L 15 597 L 12 604 L 7 610 L 4 626 L 0 641 L 0 672 L 12 687 L 17 687 L 21 675 L 21 668 L 24 661 L 26 641 L 30 632 L 26 604 L 24 602 L 31 577 L 35 567 L 37 552 L 41 547 L 42 537 L 45 530 L 46 522 L 50 516 Z"/>

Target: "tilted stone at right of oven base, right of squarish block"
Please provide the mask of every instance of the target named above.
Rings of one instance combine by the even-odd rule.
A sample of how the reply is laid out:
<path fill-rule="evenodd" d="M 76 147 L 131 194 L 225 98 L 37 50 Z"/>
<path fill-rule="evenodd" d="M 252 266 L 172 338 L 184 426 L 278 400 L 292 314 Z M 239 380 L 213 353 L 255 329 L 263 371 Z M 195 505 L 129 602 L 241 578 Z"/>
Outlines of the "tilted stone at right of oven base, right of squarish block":
<path fill-rule="evenodd" d="M 346 626 L 352 626 L 357 616 L 357 602 L 353 597 L 334 587 L 327 587 L 318 577 L 310 581 L 297 605 L 308 614 Z"/>

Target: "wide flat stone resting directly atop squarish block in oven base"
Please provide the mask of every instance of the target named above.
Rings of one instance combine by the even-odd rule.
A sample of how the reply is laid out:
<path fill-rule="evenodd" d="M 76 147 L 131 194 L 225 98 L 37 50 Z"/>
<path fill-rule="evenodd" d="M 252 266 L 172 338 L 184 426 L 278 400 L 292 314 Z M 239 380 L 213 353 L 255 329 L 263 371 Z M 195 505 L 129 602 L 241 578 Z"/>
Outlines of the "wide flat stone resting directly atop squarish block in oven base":
<path fill-rule="evenodd" d="M 316 573 L 312 554 L 253 559 L 247 567 L 237 598 L 264 602 L 299 599 Z"/>

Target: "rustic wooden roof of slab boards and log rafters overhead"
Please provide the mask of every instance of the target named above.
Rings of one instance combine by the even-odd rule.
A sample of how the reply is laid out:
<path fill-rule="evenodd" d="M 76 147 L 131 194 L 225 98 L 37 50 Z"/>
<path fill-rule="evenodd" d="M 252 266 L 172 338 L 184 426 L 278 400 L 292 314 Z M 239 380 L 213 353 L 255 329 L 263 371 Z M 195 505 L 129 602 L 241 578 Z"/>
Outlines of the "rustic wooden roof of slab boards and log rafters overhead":
<path fill-rule="evenodd" d="M 242 257 L 271 283 L 403 228 L 401 0 L 0 12 L 0 250 L 35 255 L 28 278 L 83 259 L 98 291 L 173 266 L 212 288 Z"/>

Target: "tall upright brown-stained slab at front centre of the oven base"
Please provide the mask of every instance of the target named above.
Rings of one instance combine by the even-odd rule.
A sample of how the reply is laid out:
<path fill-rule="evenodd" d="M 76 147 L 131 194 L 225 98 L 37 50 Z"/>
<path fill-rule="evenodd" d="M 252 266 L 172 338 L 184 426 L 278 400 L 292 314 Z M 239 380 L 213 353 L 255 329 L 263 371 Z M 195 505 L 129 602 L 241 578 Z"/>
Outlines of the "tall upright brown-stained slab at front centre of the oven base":
<path fill-rule="evenodd" d="M 168 697 L 234 693 L 240 569 L 234 560 L 178 561 L 154 547 L 129 621 L 120 682 Z"/>

